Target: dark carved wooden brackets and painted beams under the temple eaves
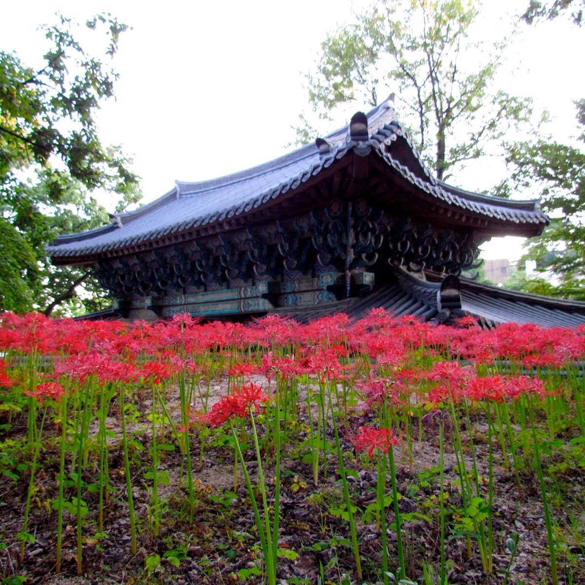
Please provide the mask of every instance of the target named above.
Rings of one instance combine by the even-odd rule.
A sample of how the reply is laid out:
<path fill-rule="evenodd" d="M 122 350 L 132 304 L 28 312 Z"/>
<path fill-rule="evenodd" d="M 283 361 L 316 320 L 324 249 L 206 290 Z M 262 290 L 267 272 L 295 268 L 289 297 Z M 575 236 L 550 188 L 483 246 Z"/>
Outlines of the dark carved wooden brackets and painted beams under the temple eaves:
<path fill-rule="evenodd" d="M 181 297 L 190 311 L 205 299 L 202 314 L 214 312 L 209 303 L 227 301 L 230 311 L 250 312 L 364 294 L 374 275 L 388 280 L 388 264 L 457 276 L 479 266 L 478 253 L 473 232 L 391 216 L 365 199 L 333 199 L 325 209 L 103 260 L 95 274 L 113 297 L 155 311 L 165 306 L 170 311 L 170 305 L 177 305 L 173 298 Z M 250 287 L 257 300 L 266 302 L 248 297 L 250 302 L 236 307 L 233 291 Z M 145 297 L 150 300 L 139 301 Z"/>

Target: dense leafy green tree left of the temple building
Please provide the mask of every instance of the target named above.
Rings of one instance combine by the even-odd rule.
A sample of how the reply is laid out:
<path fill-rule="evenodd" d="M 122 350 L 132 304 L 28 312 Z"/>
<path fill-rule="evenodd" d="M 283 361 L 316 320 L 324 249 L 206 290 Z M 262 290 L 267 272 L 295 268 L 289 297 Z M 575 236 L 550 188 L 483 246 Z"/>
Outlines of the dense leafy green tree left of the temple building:
<path fill-rule="evenodd" d="M 111 15 L 86 25 L 105 29 L 104 58 L 113 57 L 128 29 Z M 95 123 L 117 75 L 82 48 L 76 28 L 63 16 L 59 25 L 42 27 L 50 46 L 39 70 L 0 52 L 1 309 L 50 314 L 65 302 L 68 310 L 79 308 L 78 287 L 90 274 L 51 266 L 43 245 L 57 233 L 104 222 L 107 214 L 92 192 L 115 193 L 118 211 L 139 199 L 129 160 L 102 145 Z M 85 303 L 92 307 L 91 294 Z"/>

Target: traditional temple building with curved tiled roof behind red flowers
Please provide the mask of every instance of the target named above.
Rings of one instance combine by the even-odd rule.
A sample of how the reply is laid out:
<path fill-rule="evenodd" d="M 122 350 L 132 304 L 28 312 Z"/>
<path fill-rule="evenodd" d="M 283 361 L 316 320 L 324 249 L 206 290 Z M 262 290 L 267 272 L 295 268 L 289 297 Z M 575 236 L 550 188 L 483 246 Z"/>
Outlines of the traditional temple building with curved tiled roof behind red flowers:
<path fill-rule="evenodd" d="M 585 322 L 585 303 L 460 278 L 493 236 L 539 235 L 538 201 L 489 197 L 432 176 L 390 103 L 276 160 L 199 183 L 102 228 L 59 236 L 55 264 L 91 266 L 126 318 L 179 312 L 307 321 L 374 307 L 453 322 L 474 315 Z"/>

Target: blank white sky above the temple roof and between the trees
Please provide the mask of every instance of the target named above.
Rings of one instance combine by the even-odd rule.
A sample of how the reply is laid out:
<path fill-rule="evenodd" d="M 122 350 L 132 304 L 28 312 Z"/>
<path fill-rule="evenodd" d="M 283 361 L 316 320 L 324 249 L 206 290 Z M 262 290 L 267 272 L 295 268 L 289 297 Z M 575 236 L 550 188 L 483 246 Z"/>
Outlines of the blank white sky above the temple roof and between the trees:
<path fill-rule="evenodd" d="M 486 2 L 478 34 L 499 36 L 500 16 L 519 13 L 527 4 Z M 360 11 L 368 5 L 366 0 L 8 2 L 2 7 L 0 49 L 15 50 L 30 66 L 40 64 L 46 45 L 37 26 L 53 23 L 56 11 L 80 22 L 111 12 L 133 27 L 121 36 L 113 63 L 120 74 L 117 99 L 102 105 L 98 120 L 103 142 L 121 144 L 133 156 L 148 202 L 176 179 L 218 177 L 283 154 L 294 139 L 291 127 L 298 125 L 298 114 L 308 108 L 304 74 L 320 42 L 351 21 L 352 6 Z M 585 97 L 579 64 L 584 39 L 585 31 L 563 19 L 522 27 L 498 81 L 512 94 L 533 97 L 536 109 L 549 109 L 559 140 L 572 129 L 572 100 Z M 356 103 L 350 109 L 368 107 Z M 500 178 L 493 174 L 503 171 L 501 161 L 491 173 L 483 164 L 453 183 L 488 188 Z M 483 256 L 514 259 L 519 240 L 488 246 Z"/>

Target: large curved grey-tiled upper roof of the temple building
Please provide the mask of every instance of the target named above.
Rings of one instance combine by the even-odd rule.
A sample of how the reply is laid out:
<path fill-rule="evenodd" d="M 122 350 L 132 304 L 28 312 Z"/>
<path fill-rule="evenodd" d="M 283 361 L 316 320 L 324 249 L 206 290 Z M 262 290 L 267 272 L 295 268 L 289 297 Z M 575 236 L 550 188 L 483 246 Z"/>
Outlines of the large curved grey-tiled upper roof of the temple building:
<path fill-rule="evenodd" d="M 504 225 L 525 224 L 527 235 L 528 231 L 529 235 L 534 235 L 546 225 L 548 220 L 539 211 L 536 201 L 488 197 L 436 180 L 387 102 L 367 114 L 367 126 L 370 131 L 375 130 L 366 140 L 352 139 L 348 125 L 326 139 L 319 139 L 316 144 L 307 144 L 249 170 L 198 183 L 177 181 L 173 189 L 156 201 L 135 211 L 112 216 L 109 225 L 89 232 L 57 236 L 47 246 L 47 253 L 61 262 L 74 261 L 75 257 L 99 255 L 142 242 L 156 243 L 156 240 L 174 233 L 247 214 L 270 199 L 299 188 L 354 149 L 362 155 L 371 151 L 377 153 L 400 176 L 442 204 Z M 394 147 L 393 143 L 400 147 Z"/>

